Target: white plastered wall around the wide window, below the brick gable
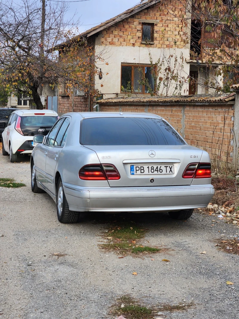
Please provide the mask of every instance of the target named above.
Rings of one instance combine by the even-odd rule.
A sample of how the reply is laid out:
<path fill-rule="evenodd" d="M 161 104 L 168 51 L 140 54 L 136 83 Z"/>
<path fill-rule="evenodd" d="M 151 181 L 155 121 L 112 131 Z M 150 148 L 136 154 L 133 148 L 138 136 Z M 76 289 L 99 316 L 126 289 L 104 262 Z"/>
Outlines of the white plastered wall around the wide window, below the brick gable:
<path fill-rule="evenodd" d="M 99 39 L 97 39 L 99 40 Z M 165 56 L 168 58 L 171 54 L 180 58 L 181 52 L 183 53 L 184 58 L 189 59 L 189 49 L 182 48 L 148 48 L 148 47 L 132 47 L 132 46 L 110 46 L 110 45 L 97 45 L 99 42 L 96 41 L 96 55 L 100 55 L 103 52 L 102 57 L 104 62 L 97 62 L 98 68 L 101 68 L 103 72 L 103 78 L 100 80 L 99 76 L 95 76 L 95 87 L 104 95 L 104 98 L 115 97 L 115 93 L 120 93 L 121 89 L 121 63 L 132 63 L 132 64 L 150 64 L 149 52 L 155 63 L 159 58 Z M 171 64 L 173 65 L 174 58 L 172 58 Z M 106 65 L 105 63 L 108 63 Z M 180 72 L 181 77 L 185 77 L 189 74 L 189 63 L 184 62 L 184 71 Z M 165 68 L 167 64 L 165 63 Z M 106 73 L 109 73 L 106 75 Z M 183 81 L 183 80 L 182 80 Z M 103 85 L 103 87 L 101 86 Z M 175 83 L 172 83 L 170 86 L 169 94 L 174 91 Z M 187 94 L 188 90 L 188 81 L 184 83 L 181 94 Z M 162 92 L 162 89 L 159 91 Z"/>

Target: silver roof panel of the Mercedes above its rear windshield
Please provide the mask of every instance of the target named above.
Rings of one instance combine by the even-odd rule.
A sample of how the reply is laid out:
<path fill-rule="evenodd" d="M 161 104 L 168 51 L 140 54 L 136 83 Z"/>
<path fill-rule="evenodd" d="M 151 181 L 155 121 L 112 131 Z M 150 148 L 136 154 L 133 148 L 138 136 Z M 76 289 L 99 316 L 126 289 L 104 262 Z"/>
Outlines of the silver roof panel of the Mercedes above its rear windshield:
<path fill-rule="evenodd" d="M 136 113 L 136 112 L 70 112 L 64 115 L 79 114 L 83 118 L 93 118 L 93 117 L 148 117 L 148 118 L 162 118 L 159 115 L 152 113 Z"/>

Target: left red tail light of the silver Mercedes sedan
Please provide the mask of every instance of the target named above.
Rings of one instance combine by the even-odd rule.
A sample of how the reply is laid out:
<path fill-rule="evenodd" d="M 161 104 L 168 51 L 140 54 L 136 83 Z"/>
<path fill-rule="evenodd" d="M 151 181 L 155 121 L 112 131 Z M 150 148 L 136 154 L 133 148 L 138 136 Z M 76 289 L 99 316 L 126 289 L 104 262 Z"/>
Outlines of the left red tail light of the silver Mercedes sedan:
<path fill-rule="evenodd" d="M 111 164 L 90 164 L 80 169 L 79 178 L 84 181 L 119 180 L 120 174 Z"/>

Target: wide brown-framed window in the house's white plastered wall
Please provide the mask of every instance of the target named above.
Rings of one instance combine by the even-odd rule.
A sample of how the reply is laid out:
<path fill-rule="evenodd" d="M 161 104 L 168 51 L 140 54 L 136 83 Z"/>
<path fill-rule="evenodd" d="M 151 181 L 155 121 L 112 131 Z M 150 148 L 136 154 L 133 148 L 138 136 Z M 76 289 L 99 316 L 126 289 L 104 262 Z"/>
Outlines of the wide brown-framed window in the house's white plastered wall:
<path fill-rule="evenodd" d="M 121 65 L 121 93 L 154 92 L 154 68 L 146 65 Z"/>

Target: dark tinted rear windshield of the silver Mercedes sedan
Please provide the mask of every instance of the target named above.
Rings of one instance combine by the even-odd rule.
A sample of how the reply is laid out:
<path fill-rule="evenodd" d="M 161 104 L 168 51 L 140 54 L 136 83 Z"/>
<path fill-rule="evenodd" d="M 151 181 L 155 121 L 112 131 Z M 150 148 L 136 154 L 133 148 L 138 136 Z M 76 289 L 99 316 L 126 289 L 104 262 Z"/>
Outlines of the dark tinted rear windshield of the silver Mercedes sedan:
<path fill-rule="evenodd" d="M 83 145 L 185 145 L 162 119 L 98 117 L 82 121 Z"/>

